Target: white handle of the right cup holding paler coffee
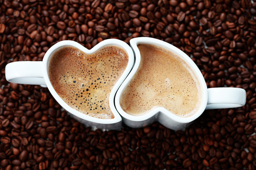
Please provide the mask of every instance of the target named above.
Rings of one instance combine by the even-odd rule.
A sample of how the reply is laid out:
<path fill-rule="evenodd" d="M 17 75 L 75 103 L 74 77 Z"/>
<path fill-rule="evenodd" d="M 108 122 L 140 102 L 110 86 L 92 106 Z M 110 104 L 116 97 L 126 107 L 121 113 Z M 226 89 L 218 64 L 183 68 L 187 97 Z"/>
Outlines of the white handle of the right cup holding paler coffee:
<path fill-rule="evenodd" d="M 208 88 L 206 109 L 242 107 L 245 101 L 246 92 L 242 88 Z"/>

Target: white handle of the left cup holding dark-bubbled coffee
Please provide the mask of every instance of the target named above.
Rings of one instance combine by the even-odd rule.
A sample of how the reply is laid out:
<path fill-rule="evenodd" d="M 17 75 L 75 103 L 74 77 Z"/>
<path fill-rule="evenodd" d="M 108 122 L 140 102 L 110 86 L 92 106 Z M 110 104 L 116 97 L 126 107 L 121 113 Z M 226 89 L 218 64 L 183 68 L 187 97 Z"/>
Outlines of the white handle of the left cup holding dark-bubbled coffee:
<path fill-rule="evenodd" d="M 8 82 L 47 87 L 43 78 L 43 62 L 11 62 L 5 67 Z"/>

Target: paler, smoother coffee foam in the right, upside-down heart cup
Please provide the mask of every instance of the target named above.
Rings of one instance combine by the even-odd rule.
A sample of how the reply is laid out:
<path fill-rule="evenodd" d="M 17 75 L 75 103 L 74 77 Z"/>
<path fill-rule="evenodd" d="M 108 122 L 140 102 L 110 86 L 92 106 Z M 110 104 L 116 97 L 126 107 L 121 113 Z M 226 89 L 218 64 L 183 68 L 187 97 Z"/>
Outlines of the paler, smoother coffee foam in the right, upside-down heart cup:
<path fill-rule="evenodd" d="M 196 113 L 201 88 L 187 63 L 154 45 L 139 44 L 138 48 L 140 65 L 121 95 L 121 108 L 134 116 L 159 107 L 183 118 Z"/>

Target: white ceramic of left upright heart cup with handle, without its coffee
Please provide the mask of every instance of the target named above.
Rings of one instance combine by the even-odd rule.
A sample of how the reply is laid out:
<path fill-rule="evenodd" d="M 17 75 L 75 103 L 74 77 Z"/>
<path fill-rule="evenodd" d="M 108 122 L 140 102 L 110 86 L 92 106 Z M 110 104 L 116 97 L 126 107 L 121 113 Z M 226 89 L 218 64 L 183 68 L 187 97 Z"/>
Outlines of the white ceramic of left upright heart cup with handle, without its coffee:
<path fill-rule="evenodd" d="M 67 103 L 65 103 L 59 95 L 55 92 L 48 75 L 48 66 L 53 53 L 58 51 L 60 48 L 65 46 L 74 46 L 87 54 L 93 54 L 97 50 L 106 46 L 118 46 L 121 47 L 128 54 L 128 65 L 123 72 L 123 75 L 119 78 L 115 86 L 112 88 L 109 105 L 114 118 L 112 119 L 101 119 L 94 118 L 79 111 L 71 108 Z M 117 89 L 120 87 L 124 79 L 128 76 L 134 63 L 134 55 L 132 49 L 123 41 L 117 39 L 108 39 L 101 41 L 91 50 L 86 49 L 84 46 L 80 45 L 75 41 L 60 41 L 53 45 L 44 55 L 42 62 L 11 62 L 5 67 L 5 77 L 9 82 L 20 83 L 20 84 L 34 84 L 41 85 L 42 87 L 47 87 L 53 98 L 70 114 L 71 117 L 85 124 L 86 126 L 91 126 L 93 128 L 99 129 L 121 129 L 122 118 L 117 113 L 114 106 L 114 97 Z"/>

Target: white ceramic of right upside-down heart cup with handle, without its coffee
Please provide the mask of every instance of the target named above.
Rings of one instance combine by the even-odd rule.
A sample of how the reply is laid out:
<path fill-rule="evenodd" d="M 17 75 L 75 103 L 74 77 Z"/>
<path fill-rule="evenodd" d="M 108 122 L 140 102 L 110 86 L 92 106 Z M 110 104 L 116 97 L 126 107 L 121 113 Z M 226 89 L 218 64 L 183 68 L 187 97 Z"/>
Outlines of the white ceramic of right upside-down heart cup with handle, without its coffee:
<path fill-rule="evenodd" d="M 130 80 L 133 78 L 133 75 L 137 72 L 137 69 L 140 64 L 140 52 L 138 48 L 138 44 L 151 44 L 155 46 L 162 47 L 170 52 L 176 54 L 176 56 L 180 57 L 184 62 L 188 64 L 192 68 L 192 71 L 196 74 L 197 79 L 200 83 L 200 87 L 202 88 L 202 101 L 201 106 L 192 116 L 187 118 L 181 118 L 176 116 L 175 114 L 169 112 L 165 108 L 155 108 L 149 113 L 142 116 L 133 116 L 126 113 L 120 106 L 120 97 L 123 93 L 123 90 L 126 88 Z M 185 129 L 189 124 L 192 123 L 193 120 L 198 118 L 205 109 L 216 109 L 216 108 L 235 108 L 241 107 L 245 105 L 246 93 L 242 88 L 208 88 L 206 86 L 205 80 L 203 78 L 202 73 L 196 66 L 196 64 L 192 61 L 190 57 L 187 56 L 180 49 L 175 46 L 170 45 L 164 41 L 157 40 L 155 38 L 149 37 L 138 37 L 130 40 L 130 45 L 135 54 L 135 63 L 132 71 L 129 73 L 128 77 L 125 79 L 123 84 L 117 91 L 115 97 L 115 105 L 118 113 L 123 118 L 123 122 L 130 127 L 140 128 L 147 126 L 155 121 L 159 121 L 164 126 L 173 129 Z"/>

